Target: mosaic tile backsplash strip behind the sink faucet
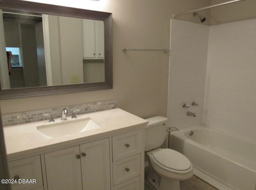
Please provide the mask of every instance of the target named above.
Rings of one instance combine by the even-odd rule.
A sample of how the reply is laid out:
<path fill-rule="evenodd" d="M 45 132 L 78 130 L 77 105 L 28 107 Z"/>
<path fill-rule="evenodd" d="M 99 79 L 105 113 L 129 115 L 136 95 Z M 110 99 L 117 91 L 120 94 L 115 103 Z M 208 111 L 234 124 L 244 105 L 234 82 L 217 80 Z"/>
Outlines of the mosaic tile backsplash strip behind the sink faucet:
<path fill-rule="evenodd" d="M 19 125 L 25 123 L 31 123 L 36 121 L 48 120 L 48 117 L 44 117 L 44 113 L 50 113 L 55 118 L 61 117 L 61 111 L 63 108 L 68 110 L 67 117 L 71 116 L 73 111 L 80 109 L 81 111 L 77 112 L 77 115 L 84 113 L 92 113 L 97 111 L 103 111 L 108 109 L 113 109 L 118 107 L 118 100 L 107 100 L 100 102 L 92 102 L 78 105 L 62 106 L 51 109 L 42 109 L 36 111 L 26 111 L 21 113 L 9 113 L 2 114 L 2 122 L 4 127 L 11 125 Z"/>

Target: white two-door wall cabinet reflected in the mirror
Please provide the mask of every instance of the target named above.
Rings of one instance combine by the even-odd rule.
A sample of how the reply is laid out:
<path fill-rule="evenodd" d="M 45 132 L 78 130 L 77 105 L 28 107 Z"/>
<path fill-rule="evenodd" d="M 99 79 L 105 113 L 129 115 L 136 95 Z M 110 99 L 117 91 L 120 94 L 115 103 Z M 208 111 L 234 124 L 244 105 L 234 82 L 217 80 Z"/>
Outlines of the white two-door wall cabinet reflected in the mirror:
<path fill-rule="evenodd" d="M 84 59 L 104 59 L 104 22 L 82 19 Z"/>

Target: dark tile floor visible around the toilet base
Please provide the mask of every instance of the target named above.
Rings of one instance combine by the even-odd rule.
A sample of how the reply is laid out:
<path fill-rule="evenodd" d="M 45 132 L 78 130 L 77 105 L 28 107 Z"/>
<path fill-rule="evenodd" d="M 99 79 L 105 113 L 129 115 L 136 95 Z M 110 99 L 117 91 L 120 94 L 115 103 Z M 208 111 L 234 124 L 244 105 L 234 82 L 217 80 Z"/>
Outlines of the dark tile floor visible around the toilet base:
<path fill-rule="evenodd" d="M 146 175 L 148 174 L 148 167 L 145 168 L 145 190 L 156 190 L 148 179 Z M 210 184 L 204 182 L 200 178 L 196 177 L 195 175 L 185 181 L 180 182 L 180 190 L 218 190 L 217 188 L 211 186 Z"/>

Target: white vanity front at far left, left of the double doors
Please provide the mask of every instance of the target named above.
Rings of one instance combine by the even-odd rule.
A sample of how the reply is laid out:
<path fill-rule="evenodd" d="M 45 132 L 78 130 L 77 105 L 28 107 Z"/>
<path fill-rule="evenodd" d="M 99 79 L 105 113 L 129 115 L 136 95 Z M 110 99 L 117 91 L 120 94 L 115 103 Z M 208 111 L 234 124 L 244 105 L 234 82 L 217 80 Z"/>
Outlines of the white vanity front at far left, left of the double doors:
<path fill-rule="evenodd" d="M 43 185 L 40 155 L 8 162 L 8 167 L 10 179 L 17 179 L 17 183 L 12 184 L 13 190 L 30 190 Z M 22 180 L 29 183 L 22 183 Z"/>

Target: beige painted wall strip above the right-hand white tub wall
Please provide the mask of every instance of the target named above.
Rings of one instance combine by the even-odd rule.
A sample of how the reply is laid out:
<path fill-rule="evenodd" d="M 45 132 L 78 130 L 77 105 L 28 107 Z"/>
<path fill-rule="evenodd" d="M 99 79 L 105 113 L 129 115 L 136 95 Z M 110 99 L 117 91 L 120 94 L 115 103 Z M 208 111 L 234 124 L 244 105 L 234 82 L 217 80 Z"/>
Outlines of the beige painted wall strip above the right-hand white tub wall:
<path fill-rule="evenodd" d="M 212 0 L 211 4 L 215 5 L 230 1 L 231 0 Z M 256 1 L 244 0 L 212 8 L 210 15 L 210 25 L 253 19 L 256 18 Z"/>

